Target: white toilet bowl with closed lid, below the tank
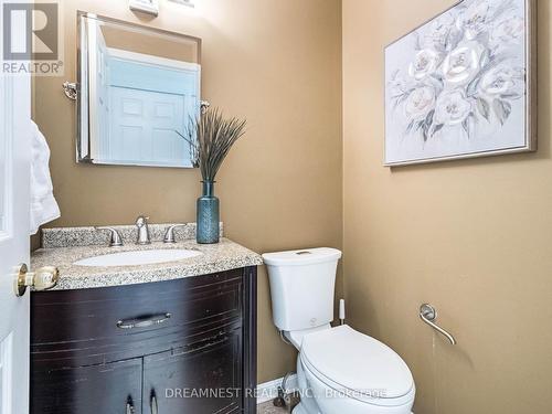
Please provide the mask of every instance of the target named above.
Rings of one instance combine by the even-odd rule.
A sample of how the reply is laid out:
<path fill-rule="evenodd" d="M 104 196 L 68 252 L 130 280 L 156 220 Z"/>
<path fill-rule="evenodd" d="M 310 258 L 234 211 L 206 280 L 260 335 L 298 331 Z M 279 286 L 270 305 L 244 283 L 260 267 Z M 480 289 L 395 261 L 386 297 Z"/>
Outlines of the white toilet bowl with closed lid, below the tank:
<path fill-rule="evenodd" d="M 391 348 L 348 326 L 305 336 L 295 414 L 410 414 L 412 374 Z"/>

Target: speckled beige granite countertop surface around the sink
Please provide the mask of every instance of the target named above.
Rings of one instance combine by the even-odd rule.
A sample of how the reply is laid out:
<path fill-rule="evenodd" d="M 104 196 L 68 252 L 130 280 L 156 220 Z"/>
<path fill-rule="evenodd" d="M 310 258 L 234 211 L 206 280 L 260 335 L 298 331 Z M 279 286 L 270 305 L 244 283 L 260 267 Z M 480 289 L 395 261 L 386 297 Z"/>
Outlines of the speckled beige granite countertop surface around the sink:
<path fill-rule="evenodd" d="M 119 252 L 167 248 L 190 248 L 203 254 L 177 262 L 149 265 L 110 267 L 74 265 L 74 262 L 86 257 Z M 188 238 L 173 244 L 153 241 L 145 246 L 127 243 L 121 247 L 108 247 L 106 244 L 50 247 L 40 248 L 31 255 L 31 268 L 33 269 L 43 266 L 56 266 L 59 268 L 60 282 L 52 290 L 171 280 L 262 264 L 263 259 L 258 254 L 227 238 L 221 238 L 217 244 L 198 244 L 195 240 Z"/>

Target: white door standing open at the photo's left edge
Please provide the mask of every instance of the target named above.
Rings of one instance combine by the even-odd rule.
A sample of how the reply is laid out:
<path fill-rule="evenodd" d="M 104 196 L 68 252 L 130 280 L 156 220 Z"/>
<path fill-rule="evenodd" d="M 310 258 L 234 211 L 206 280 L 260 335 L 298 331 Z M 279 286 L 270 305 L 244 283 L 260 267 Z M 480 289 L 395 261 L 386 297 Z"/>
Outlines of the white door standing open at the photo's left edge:
<path fill-rule="evenodd" d="M 28 76 L 0 75 L 0 414 L 29 413 L 30 294 L 13 284 L 30 256 L 30 104 Z"/>

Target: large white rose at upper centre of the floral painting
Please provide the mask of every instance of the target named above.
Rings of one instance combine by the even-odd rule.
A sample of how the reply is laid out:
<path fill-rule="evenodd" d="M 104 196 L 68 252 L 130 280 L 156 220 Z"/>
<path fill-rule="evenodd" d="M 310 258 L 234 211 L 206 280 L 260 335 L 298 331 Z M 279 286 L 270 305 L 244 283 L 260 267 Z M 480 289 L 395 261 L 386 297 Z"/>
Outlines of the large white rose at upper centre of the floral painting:
<path fill-rule="evenodd" d="M 454 86 L 466 85 L 473 81 L 481 70 L 484 50 L 478 42 L 460 43 L 443 62 L 445 79 Z"/>

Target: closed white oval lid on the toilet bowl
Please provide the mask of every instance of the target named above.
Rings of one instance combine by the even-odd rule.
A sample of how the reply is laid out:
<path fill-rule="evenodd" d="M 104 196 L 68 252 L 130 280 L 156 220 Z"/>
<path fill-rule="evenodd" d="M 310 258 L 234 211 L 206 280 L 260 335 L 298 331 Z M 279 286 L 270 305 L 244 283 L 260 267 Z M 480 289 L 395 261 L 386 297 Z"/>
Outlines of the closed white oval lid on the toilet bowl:
<path fill-rule="evenodd" d="M 414 388 L 408 367 L 395 351 L 346 325 L 307 335 L 300 353 L 314 371 L 359 394 L 399 399 Z"/>

